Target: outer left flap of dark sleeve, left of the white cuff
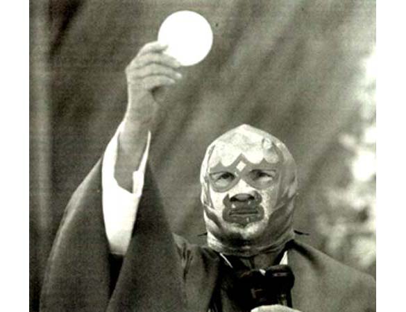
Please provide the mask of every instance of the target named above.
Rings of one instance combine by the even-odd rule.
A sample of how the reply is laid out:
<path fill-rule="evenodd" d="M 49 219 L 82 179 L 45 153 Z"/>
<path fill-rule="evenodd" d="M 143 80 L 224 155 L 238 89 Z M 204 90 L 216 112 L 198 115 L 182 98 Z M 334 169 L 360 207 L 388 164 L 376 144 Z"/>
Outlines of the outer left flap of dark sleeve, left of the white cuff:
<path fill-rule="evenodd" d="M 49 256 L 40 311 L 104 311 L 110 295 L 109 252 L 99 161 L 65 209 Z"/>

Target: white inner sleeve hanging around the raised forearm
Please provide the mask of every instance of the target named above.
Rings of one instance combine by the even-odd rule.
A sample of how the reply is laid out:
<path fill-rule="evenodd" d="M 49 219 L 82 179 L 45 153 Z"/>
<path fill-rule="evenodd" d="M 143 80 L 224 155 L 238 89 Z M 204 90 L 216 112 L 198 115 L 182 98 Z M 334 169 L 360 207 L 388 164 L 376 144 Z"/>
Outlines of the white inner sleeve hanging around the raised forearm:
<path fill-rule="evenodd" d="M 137 171 L 133 173 L 133 193 L 119 186 L 115 179 L 115 165 L 117 161 L 118 137 L 122 124 L 112 137 L 105 149 L 101 183 L 103 187 L 102 205 L 105 223 L 105 232 L 110 252 L 113 254 L 126 254 L 130 244 L 133 225 L 137 216 L 139 199 L 144 187 L 144 173 L 148 159 L 151 132 L 148 133 L 146 148 Z"/>

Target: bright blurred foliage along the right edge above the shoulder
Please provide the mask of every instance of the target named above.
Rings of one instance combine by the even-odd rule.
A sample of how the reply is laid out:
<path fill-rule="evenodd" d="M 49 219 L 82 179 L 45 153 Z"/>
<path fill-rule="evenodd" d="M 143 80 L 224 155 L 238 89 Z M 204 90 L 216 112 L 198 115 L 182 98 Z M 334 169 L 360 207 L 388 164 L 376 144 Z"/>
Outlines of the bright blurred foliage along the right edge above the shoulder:
<path fill-rule="evenodd" d="M 325 190 L 328 209 L 317 219 L 322 249 L 335 259 L 375 275 L 376 108 L 375 52 L 365 60 L 360 80 L 358 122 L 339 136 L 346 149 L 346 176 Z"/>

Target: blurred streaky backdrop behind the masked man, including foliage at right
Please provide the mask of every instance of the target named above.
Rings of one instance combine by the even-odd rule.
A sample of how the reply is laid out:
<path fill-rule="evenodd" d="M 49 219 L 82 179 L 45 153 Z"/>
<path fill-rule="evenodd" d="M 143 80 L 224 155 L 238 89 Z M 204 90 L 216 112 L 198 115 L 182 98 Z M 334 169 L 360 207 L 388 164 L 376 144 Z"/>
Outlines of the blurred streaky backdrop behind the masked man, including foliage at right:
<path fill-rule="evenodd" d="M 375 175 L 358 181 L 351 166 L 360 150 L 375 148 L 363 139 L 375 123 L 375 83 L 364 66 L 375 46 L 375 1 L 31 1 L 33 311 L 69 196 L 124 114 L 124 69 L 176 10 L 206 17 L 214 44 L 164 94 L 153 129 L 150 161 L 174 232 L 201 241 L 205 148 L 249 123 L 296 159 L 295 222 L 310 233 L 304 240 L 375 275 Z"/>

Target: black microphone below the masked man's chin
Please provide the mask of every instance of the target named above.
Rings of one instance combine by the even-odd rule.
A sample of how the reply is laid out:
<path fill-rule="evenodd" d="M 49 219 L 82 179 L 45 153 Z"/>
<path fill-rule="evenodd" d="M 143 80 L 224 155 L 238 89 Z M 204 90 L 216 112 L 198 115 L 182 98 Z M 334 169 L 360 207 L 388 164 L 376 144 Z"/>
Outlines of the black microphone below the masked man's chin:
<path fill-rule="evenodd" d="M 291 288 L 294 274 L 287 265 L 271 266 L 267 270 L 251 270 L 239 277 L 239 294 L 244 297 L 244 306 L 280 304 L 292 307 Z"/>

